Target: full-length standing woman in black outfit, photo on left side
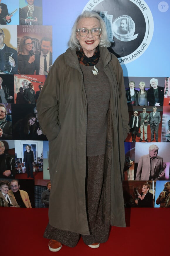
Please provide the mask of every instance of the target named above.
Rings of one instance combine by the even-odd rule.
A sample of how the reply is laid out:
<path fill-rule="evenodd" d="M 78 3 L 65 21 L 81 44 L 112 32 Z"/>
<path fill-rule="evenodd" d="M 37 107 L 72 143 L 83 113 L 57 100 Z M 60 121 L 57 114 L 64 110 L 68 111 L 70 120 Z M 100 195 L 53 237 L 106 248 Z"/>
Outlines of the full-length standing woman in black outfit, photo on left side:
<path fill-rule="evenodd" d="M 31 150 L 30 145 L 26 145 L 26 150 L 24 151 L 23 163 L 25 163 L 25 166 L 26 166 L 27 178 L 31 176 L 31 178 L 35 179 L 35 177 L 33 176 L 34 154 L 33 154 L 33 151 Z"/>

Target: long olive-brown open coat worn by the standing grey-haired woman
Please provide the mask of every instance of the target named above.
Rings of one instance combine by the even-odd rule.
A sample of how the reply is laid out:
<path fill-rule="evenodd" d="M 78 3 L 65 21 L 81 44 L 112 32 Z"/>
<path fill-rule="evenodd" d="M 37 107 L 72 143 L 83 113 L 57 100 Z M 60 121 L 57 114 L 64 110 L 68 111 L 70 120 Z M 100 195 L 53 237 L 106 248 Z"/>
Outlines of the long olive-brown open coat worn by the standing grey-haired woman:
<path fill-rule="evenodd" d="M 106 48 L 100 47 L 100 54 L 111 92 L 103 222 L 125 227 L 122 172 L 129 115 L 123 72 L 118 59 Z M 89 235 L 85 196 L 87 99 L 75 50 L 67 49 L 56 59 L 38 98 L 37 110 L 39 124 L 49 140 L 49 223 L 61 230 Z"/>

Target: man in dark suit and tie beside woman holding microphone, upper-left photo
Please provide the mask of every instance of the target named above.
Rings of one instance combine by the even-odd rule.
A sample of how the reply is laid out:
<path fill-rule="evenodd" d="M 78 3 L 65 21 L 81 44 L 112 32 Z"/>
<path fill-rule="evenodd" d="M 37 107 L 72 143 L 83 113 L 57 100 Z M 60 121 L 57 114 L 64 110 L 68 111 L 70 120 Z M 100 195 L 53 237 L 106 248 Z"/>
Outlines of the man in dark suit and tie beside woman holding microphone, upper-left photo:
<path fill-rule="evenodd" d="M 35 54 L 35 69 L 36 75 L 48 74 L 50 66 L 52 65 L 52 40 L 48 37 L 43 37 L 40 41 L 41 53 Z"/>

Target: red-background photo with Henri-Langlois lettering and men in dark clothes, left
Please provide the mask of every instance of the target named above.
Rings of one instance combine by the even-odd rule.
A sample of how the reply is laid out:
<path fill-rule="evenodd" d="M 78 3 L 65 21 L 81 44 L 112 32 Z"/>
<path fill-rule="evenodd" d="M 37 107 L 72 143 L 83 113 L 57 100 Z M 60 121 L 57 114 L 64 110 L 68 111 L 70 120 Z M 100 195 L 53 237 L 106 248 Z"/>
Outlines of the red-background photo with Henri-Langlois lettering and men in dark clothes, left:
<path fill-rule="evenodd" d="M 16 104 L 35 104 L 45 82 L 45 75 L 14 76 L 14 99 Z"/>

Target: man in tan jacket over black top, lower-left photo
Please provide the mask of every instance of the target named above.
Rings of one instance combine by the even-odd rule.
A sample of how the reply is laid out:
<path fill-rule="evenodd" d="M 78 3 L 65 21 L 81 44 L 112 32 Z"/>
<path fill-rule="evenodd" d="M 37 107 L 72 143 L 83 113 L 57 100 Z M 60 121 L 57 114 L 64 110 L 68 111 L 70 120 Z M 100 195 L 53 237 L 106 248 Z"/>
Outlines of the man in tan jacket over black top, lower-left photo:
<path fill-rule="evenodd" d="M 9 195 L 18 203 L 21 208 L 32 208 L 28 193 L 24 190 L 19 189 L 19 181 L 13 179 L 11 181 L 11 189 Z"/>

